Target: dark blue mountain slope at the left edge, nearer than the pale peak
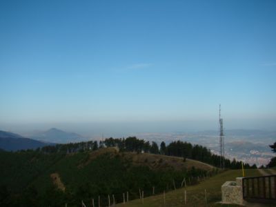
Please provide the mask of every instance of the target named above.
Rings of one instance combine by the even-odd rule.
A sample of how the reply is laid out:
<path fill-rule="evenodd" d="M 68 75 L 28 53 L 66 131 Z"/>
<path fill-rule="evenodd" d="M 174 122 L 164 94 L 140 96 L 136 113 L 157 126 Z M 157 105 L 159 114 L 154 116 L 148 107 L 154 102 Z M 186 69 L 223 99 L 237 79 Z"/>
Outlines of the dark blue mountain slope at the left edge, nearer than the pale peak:
<path fill-rule="evenodd" d="M 21 135 L 14 134 L 12 132 L 5 132 L 0 130 L 0 148 L 6 151 L 17 151 L 35 149 L 43 146 L 47 146 L 41 141 L 22 137 Z"/>

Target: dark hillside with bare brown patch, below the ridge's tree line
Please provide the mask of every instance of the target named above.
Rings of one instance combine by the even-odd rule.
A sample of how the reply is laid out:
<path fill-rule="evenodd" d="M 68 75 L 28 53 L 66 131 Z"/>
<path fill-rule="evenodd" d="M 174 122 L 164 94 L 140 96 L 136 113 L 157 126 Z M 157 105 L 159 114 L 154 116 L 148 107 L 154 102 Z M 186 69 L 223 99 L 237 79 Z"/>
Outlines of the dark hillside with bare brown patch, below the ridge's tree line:
<path fill-rule="evenodd" d="M 34 206 L 59 206 L 56 202 L 78 206 L 80 200 L 89 201 L 99 195 L 106 204 L 104 198 L 108 194 L 114 194 L 120 202 L 121 193 L 126 191 L 130 199 L 135 199 L 139 197 L 139 188 L 148 196 L 152 186 L 155 186 L 155 193 L 161 193 L 164 189 L 179 188 L 184 177 L 195 184 L 196 177 L 215 173 L 215 168 L 199 161 L 118 152 L 117 148 L 71 154 L 0 152 L 0 159 L 0 168 L 3 169 L 0 171 L 0 186 L 6 186 L 14 205 L 29 204 L 32 200 Z M 48 199 L 49 194 L 55 195 L 55 199 Z"/>

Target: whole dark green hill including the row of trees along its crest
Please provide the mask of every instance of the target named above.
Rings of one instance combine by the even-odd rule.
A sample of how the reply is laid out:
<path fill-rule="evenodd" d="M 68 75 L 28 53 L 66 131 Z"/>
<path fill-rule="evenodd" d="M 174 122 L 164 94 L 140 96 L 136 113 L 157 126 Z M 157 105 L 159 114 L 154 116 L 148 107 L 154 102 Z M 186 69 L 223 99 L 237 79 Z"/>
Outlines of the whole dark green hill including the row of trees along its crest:
<path fill-rule="evenodd" d="M 147 197 L 153 187 L 155 194 L 162 193 L 183 186 L 184 178 L 188 185 L 197 184 L 218 172 L 199 161 L 218 166 L 219 156 L 186 142 L 159 147 L 136 137 L 0 151 L 0 204 L 79 206 L 94 199 L 104 206 L 108 195 L 118 203 L 127 192 L 129 199 L 139 198 L 139 190 Z M 240 168 L 240 163 L 226 159 L 226 166 Z"/>

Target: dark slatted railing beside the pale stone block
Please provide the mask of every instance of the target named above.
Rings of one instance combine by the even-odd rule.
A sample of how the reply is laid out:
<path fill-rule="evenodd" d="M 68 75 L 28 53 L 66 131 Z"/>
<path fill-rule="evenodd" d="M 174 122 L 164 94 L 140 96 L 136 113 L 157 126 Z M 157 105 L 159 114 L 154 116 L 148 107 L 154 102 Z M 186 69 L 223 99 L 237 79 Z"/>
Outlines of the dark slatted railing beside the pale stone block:
<path fill-rule="evenodd" d="M 244 177 L 242 190 L 245 200 L 276 201 L 276 175 Z"/>

